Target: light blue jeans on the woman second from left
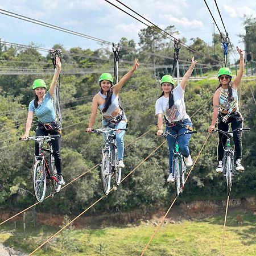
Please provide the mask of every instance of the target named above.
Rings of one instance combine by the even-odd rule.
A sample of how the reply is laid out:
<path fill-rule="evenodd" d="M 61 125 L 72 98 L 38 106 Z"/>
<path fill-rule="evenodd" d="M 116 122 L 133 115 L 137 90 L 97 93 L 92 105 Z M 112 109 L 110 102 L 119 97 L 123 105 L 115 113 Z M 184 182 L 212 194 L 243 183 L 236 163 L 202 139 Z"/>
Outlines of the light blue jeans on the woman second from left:
<path fill-rule="evenodd" d="M 126 119 L 125 115 L 123 115 L 123 119 Z M 127 123 L 123 119 L 119 123 L 117 123 L 117 125 L 113 125 L 113 123 L 108 123 L 105 121 L 105 119 L 102 119 L 101 123 L 104 128 L 125 129 Z M 124 135 L 125 135 L 125 131 L 122 131 L 121 133 L 117 133 L 115 135 L 115 140 L 117 142 L 117 158 L 118 158 L 118 160 L 123 160 L 123 151 L 125 148 L 125 144 L 123 143 Z"/>

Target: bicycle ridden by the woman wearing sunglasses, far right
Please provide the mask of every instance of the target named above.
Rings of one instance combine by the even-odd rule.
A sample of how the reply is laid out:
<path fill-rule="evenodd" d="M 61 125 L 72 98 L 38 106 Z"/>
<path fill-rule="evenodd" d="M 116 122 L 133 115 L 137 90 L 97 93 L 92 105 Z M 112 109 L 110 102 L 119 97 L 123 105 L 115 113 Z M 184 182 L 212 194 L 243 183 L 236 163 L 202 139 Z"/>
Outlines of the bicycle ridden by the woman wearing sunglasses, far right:
<path fill-rule="evenodd" d="M 222 131 L 219 129 L 213 129 L 212 133 L 217 133 L 220 132 L 224 134 L 227 139 L 226 139 L 226 144 L 224 147 L 224 156 L 223 156 L 223 174 L 226 176 L 226 185 L 228 188 L 228 196 L 230 195 L 231 192 L 231 187 L 232 187 L 232 176 L 234 175 L 234 151 L 232 150 L 231 144 L 230 144 L 230 138 L 233 137 L 233 132 L 234 131 L 249 131 L 250 128 L 237 128 L 233 131 Z"/>

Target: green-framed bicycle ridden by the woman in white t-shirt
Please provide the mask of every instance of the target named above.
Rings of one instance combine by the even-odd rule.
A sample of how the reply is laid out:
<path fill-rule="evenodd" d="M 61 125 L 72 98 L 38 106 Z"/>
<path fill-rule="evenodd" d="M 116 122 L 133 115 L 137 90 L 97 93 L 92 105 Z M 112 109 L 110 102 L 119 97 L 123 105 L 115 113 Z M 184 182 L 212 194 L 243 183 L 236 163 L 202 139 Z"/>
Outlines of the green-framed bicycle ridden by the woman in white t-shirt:
<path fill-rule="evenodd" d="M 179 149 L 178 138 L 180 135 L 193 133 L 197 133 L 197 131 L 185 131 L 181 134 L 171 134 L 170 131 L 165 131 L 162 134 L 163 137 L 171 136 L 175 138 L 175 150 L 174 155 L 172 156 L 172 175 L 174 176 L 176 196 L 179 196 L 180 192 L 182 192 L 185 182 L 185 172 L 187 171 L 184 156 Z"/>

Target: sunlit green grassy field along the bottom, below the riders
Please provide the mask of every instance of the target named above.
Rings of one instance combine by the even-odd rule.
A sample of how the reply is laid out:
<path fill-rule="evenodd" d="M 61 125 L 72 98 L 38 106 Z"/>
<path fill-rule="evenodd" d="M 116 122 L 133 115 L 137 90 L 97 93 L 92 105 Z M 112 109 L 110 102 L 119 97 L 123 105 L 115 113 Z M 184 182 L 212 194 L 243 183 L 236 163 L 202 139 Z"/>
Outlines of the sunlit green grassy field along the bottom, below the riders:
<path fill-rule="evenodd" d="M 242 224 L 237 216 L 228 216 L 223 255 L 256 255 L 256 216 L 243 214 Z M 197 221 L 164 224 L 156 233 L 144 255 L 219 255 L 223 216 Z M 53 238 L 35 255 L 141 255 L 156 226 L 150 222 L 129 228 L 66 229 Z M 10 231 L 1 227 L 0 242 L 6 246 L 31 253 L 59 229 L 40 226 L 23 234 L 21 226 Z"/>

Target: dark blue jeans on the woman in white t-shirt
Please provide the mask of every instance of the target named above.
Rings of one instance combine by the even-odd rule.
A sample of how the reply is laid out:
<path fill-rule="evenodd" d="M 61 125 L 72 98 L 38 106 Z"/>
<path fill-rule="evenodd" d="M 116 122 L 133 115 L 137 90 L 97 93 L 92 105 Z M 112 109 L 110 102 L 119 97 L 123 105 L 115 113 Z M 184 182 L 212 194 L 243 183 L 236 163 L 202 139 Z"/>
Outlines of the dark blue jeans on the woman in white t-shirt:
<path fill-rule="evenodd" d="M 189 125 L 192 127 L 192 122 L 189 121 L 189 119 L 185 119 L 183 124 Z M 187 129 L 185 129 L 185 127 L 181 125 L 175 125 L 174 127 L 166 126 L 166 130 L 170 131 L 171 134 L 181 134 L 187 131 Z M 181 154 L 183 154 L 185 158 L 187 158 L 189 155 L 188 143 L 190 138 L 191 138 L 191 134 L 183 134 L 178 138 L 180 152 Z M 174 155 L 174 150 L 175 150 L 175 138 L 171 136 L 167 136 L 166 139 L 167 139 L 168 148 L 169 148 L 169 171 L 171 174 L 172 173 L 172 156 Z"/>

